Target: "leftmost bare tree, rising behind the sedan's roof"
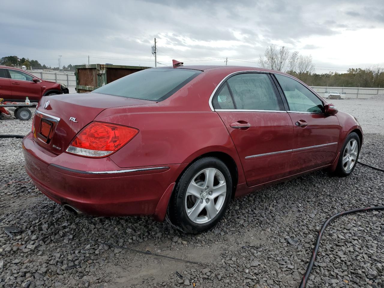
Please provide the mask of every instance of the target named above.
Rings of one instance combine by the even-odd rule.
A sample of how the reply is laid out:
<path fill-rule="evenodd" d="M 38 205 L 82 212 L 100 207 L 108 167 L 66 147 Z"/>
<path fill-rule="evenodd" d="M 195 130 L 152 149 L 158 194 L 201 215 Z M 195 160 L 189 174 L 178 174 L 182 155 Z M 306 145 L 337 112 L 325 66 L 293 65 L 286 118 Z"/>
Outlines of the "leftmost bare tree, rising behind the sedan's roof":
<path fill-rule="evenodd" d="M 264 56 L 260 55 L 260 66 L 266 69 L 285 71 L 286 62 L 289 57 L 289 50 L 283 46 L 279 50 L 276 45 L 266 48 Z"/>

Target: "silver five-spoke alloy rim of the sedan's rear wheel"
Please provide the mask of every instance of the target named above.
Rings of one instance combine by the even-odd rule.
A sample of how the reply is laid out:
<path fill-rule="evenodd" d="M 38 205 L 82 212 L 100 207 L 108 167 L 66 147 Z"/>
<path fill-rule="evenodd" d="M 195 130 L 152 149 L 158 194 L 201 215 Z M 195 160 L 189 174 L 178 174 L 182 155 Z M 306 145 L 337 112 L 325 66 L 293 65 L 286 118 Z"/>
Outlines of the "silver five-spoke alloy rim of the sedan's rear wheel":
<path fill-rule="evenodd" d="M 227 184 L 218 169 L 206 168 L 197 173 L 185 194 L 184 207 L 189 219 L 198 224 L 210 222 L 225 202 Z"/>

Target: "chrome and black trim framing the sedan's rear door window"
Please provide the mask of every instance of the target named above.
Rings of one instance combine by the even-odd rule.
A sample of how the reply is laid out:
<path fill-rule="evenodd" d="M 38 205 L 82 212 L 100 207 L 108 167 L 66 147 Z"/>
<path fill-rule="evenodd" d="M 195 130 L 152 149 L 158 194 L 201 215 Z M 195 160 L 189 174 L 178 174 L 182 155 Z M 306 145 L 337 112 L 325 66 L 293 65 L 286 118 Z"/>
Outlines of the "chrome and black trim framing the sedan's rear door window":
<path fill-rule="evenodd" d="M 268 76 L 268 79 L 270 80 L 271 82 L 271 86 L 272 86 L 272 89 L 273 89 L 273 92 L 275 93 L 275 96 L 276 96 L 276 100 L 277 100 L 277 103 L 280 107 L 280 109 L 282 110 L 258 110 L 258 109 L 236 109 L 236 103 L 235 103 L 235 99 L 233 99 L 233 94 L 232 94 L 232 90 L 227 82 L 228 79 L 232 78 L 233 76 L 237 75 L 237 74 L 267 74 Z M 231 97 L 232 97 L 232 101 L 233 101 L 233 105 L 235 106 L 235 109 L 215 109 L 213 104 L 212 104 L 212 101 L 213 101 L 213 98 L 215 97 L 217 91 L 220 91 L 220 89 L 224 86 L 224 85 L 227 85 L 228 87 L 228 90 L 231 94 Z M 225 76 L 221 81 L 220 83 L 216 86 L 216 88 L 214 89 L 214 91 L 212 92 L 210 98 L 209 98 L 209 107 L 211 108 L 211 111 L 240 111 L 240 112 L 283 112 L 283 113 L 286 113 L 286 110 L 285 110 L 285 106 L 283 105 L 283 103 L 281 102 L 282 99 L 281 99 L 281 95 L 280 93 L 278 93 L 278 91 L 276 91 L 276 85 L 274 83 L 274 81 L 272 80 L 271 78 L 271 73 L 268 72 L 268 71 L 261 71 L 261 70 L 245 70 L 245 71 L 236 71 L 236 72 L 233 72 L 233 73 L 230 73 L 228 74 L 227 76 Z M 280 97 L 279 97 L 280 96 Z"/>

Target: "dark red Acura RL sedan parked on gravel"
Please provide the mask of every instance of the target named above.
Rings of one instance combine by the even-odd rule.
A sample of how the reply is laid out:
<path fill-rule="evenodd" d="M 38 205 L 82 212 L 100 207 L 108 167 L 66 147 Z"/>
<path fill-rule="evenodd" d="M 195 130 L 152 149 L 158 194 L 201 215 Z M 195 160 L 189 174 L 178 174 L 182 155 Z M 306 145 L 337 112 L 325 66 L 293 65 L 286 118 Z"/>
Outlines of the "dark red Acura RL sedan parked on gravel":
<path fill-rule="evenodd" d="M 171 66 L 43 97 L 23 149 L 36 187 L 72 214 L 199 233 L 233 197 L 320 169 L 349 175 L 361 144 L 356 118 L 288 74 Z"/>

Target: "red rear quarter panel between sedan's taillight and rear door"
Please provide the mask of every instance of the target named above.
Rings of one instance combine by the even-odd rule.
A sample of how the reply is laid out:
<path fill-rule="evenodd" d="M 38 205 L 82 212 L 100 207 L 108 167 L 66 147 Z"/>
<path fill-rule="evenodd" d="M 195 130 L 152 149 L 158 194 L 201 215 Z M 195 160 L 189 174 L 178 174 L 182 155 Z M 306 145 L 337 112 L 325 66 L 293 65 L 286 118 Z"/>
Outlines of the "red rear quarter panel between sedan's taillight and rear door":
<path fill-rule="evenodd" d="M 190 163 L 202 154 L 223 152 L 235 161 L 239 183 L 244 181 L 232 139 L 216 112 L 149 112 L 148 107 L 137 106 L 136 109 L 110 108 L 108 114 L 103 116 L 101 113 L 95 121 L 135 127 L 140 131 L 110 156 L 119 167 Z"/>

